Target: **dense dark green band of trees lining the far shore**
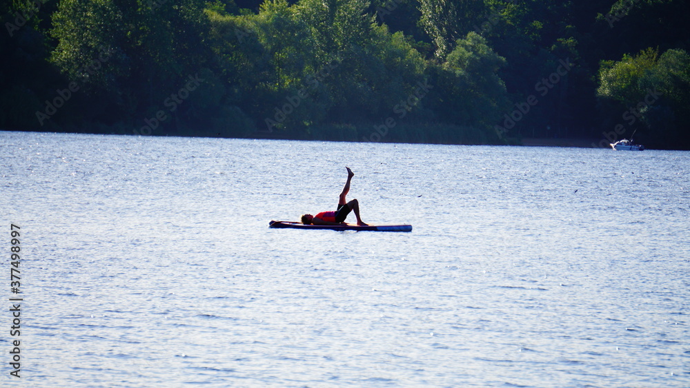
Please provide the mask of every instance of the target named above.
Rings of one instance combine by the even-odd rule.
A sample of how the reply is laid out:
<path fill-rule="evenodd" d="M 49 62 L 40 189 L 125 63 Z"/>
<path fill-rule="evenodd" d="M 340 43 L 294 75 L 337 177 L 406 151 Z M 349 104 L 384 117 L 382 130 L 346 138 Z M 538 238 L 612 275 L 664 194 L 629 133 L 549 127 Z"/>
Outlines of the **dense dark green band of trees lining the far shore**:
<path fill-rule="evenodd" d="M 690 148 L 687 0 L 0 2 L 0 128 Z"/>

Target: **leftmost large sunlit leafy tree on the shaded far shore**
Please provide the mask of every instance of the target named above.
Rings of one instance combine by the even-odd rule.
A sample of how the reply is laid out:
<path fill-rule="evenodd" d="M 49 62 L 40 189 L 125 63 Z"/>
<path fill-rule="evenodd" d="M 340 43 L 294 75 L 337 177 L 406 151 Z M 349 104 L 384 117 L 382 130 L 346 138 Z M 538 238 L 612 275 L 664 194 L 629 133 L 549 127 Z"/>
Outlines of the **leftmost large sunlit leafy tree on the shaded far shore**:
<path fill-rule="evenodd" d="M 84 111 L 87 119 L 113 123 L 128 117 L 138 125 L 204 70 L 203 7 L 199 0 L 61 1 L 53 15 L 58 44 L 52 61 L 95 96 Z M 184 104 L 176 102 L 168 122 L 177 127 L 182 116 L 203 116 L 198 99 L 195 93 Z"/>

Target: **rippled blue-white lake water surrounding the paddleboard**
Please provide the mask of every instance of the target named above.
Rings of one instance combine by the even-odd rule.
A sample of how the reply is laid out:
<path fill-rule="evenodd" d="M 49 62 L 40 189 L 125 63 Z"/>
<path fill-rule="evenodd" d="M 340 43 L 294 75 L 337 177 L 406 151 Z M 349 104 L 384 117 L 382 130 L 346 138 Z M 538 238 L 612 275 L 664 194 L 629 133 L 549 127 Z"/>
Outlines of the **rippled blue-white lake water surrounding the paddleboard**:
<path fill-rule="evenodd" d="M 346 165 L 413 232 L 268 228 Z M 0 132 L 0 168 L 3 386 L 690 386 L 690 152 Z"/>

